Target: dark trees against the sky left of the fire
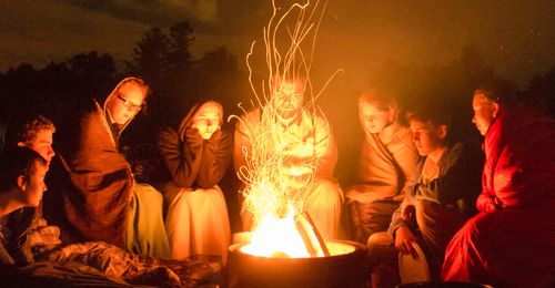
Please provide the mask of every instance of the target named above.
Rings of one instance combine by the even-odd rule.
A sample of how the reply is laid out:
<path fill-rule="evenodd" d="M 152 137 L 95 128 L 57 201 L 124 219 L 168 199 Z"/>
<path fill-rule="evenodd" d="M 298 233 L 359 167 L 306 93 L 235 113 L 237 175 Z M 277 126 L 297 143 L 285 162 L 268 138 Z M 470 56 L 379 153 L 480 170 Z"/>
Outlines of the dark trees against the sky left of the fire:
<path fill-rule="evenodd" d="M 123 71 L 117 70 L 110 54 L 97 51 L 43 69 L 28 63 L 10 68 L 0 73 L 0 122 L 28 113 L 44 114 L 54 123 L 63 121 L 85 99 L 95 97 L 102 103 L 129 75 L 142 78 L 152 94 L 148 109 L 133 123 L 141 128 L 130 128 L 123 141 L 152 141 L 158 126 L 179 123 L 192 105 L 204 99 L 219 101 L 228 114 L 234 113 L 236 100 L 248 93 L 246 76 L 225 48 L 194 59 L 190 53 L 193 32 L 188 21 L 176 22 L 169 31 L 152 28 L 135 45 Z"/>

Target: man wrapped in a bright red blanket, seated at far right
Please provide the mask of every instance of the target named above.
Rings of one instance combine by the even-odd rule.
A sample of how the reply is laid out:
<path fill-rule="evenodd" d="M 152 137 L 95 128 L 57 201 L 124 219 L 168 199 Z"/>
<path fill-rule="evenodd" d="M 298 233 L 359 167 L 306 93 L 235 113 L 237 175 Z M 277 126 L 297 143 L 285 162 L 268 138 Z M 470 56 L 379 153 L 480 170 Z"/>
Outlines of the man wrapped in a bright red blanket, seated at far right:
<path fill-rule="evenodd" d="M 474 92 L 485 136 L 478 214 L 453 237 L 443 279 L 494 287 L 555 287 L 555 120 L 514 103 L 503 81 Z"/>

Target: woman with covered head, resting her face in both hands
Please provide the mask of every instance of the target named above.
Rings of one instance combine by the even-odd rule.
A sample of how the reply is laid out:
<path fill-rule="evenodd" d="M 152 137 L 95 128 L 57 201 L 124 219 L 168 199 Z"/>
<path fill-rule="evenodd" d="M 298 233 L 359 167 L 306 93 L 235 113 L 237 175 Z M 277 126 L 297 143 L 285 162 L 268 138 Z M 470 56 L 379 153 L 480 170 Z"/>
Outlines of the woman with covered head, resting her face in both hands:
<path fill-rule="evenodd" d="M 162 188 L 172 258 L 218 255 L 225 263 L 231 240 L 228 207 L 218 183 L 231 162 L 233 138 L 222 131 L 223 109 L 205 101 L 178 130 L 164 128 L 160 153 L 171 181 Z"/>

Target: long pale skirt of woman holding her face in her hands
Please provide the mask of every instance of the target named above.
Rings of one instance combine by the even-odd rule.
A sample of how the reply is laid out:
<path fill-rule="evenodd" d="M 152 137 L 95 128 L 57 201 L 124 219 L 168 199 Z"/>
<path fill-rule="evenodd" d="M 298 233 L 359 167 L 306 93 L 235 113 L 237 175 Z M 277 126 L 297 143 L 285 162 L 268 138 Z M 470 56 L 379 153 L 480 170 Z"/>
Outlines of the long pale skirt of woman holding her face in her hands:
<path fill-rule="evenodd" d="M 225 198 L 219 186 L 180 189 L 168 208 L 165 229 L 172 258 L 216 255 L 225 264 L 231 229 Z"/>

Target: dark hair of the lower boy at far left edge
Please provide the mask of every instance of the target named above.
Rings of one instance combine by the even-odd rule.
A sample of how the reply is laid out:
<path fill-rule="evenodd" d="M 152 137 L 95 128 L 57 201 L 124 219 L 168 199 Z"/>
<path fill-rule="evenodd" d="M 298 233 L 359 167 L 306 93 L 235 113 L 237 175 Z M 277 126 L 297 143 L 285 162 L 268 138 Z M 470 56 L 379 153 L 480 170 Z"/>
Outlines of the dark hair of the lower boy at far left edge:
<path fill-rule="evenodd" d="M 0 192 L 18 185 L 18 177 L 28 179 L 36 171 L 36 163 L 48 165 L 48 162 L 36 151 L 28 147 L 13 146 L 0 155 Z"/>

